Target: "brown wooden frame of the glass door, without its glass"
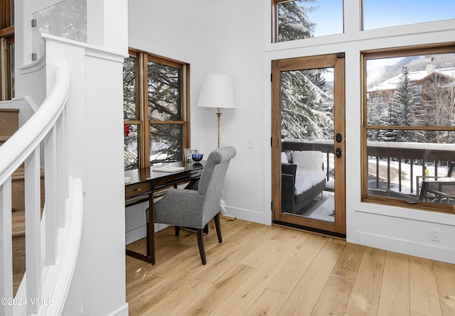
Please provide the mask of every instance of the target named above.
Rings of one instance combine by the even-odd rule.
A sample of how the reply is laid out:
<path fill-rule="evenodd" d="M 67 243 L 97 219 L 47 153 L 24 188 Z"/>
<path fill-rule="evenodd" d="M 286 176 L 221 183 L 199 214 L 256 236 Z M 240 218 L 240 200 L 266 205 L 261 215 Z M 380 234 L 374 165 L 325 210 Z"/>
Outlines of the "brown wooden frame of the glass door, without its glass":
<path fill-rule="evenodd" d="M 304 67 L 303 67 L 304 65 Z M 281 212 L 281 72 L 290 70 L 304 70 L 313 68 L 334 68 L 333 95 L 336 104 L 334 130 L 341 134 L 342 140 L 336 143 L 343 155 L 335 159 L 336 181 L 335 186 L 336 210 L 335 222 L 323 222 L 306 217 L 296 217 L 293 214 Z M 277 93 L 278 92 L 278 93 Z M 345 62 L 344 53 L 319 55 L 302 58 L 272 60 L 272 223 L 289 224 L 293 227 L 304 227 L 309 230 L 320 231 L 336 236 L 346 236 L 346 173 L 345 173 Z M 335 138 L 335 137 L 333 137 Z M 335 148 L 334 146 L 334 148 Z"/>

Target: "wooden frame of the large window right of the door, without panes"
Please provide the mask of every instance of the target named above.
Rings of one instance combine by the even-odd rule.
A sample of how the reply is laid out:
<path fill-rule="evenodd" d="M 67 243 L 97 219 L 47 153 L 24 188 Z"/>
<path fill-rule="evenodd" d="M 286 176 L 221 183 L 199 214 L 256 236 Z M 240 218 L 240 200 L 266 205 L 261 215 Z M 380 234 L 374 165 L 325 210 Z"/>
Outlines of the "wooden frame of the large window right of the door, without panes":
<path fill-rule="evenodd" d="M 367 116 L 367 60 L 380 59 L 380 58 L 395 58 L 395 57 L 407 57 L 411 55 L 431 55 L 431 54 L 444 54 L 444 53 L 455 53 L 455 43 L 440 43 L 437 45 L 419 45 L 409 46 L 404 48 L 385 48 L 379 50 L 364 50 L 360 52 L 360 68 L 361 68 L 361 202 L 375 203 L 380 205 L 388 205 L 395 207 L 404 207 L 411 209 L 422 209 L 430 212 L 444 212 L 454 214 L 454 205 L 444 205 L 439 203 L 422 202 L 422 201 L 409 201 L 400 200 L 392 197 L 381 197 L 378 195 L 368 194 L 368 159 L 367 155 L 367 131 L 368 129 L 408 129 L 412 130 L 418 127 L 420 130 L 444 130 L 444 131 L 455 131 L 455 126 L 391 126 L 391 125 L 380 125 L 373 126 L 368 125 Z"/>

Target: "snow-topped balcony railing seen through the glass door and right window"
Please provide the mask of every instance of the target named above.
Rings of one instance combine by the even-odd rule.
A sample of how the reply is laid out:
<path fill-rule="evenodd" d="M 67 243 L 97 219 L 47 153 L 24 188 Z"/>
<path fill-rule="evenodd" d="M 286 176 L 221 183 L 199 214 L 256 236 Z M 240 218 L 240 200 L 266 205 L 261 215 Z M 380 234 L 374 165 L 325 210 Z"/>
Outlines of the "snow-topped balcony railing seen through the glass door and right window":
<path fill-rule="evenodd" d="M 327 181 L 333 177 L 333 141 L 282 140 L 283 151 L 326 153 Z M 418 200 L 422 180 L 447 176 L 454 144 L 368 141 L 368 194 Z"/>

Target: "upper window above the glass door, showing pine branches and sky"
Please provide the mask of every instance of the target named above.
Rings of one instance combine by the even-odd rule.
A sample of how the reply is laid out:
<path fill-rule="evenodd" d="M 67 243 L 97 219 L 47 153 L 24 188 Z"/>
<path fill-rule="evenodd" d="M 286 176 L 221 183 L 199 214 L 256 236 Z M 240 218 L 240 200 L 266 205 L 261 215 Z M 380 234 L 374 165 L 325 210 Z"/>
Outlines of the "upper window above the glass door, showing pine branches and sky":
<path fill-rule="evenodd" d="M 343 33 L 343 0 L 272 0 L 273 42 Z"/>

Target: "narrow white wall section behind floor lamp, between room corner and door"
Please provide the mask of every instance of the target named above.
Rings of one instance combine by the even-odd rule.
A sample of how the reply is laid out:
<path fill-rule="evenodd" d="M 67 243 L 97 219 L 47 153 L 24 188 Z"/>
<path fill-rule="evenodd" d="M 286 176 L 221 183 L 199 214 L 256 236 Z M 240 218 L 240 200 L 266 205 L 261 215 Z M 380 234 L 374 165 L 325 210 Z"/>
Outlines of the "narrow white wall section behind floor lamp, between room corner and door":
<path fill-rule="evenodd" d="M 269 124 L 264 124 L 264 1 L 204 1 L 200 13 L 198 75 L 232 75 L 237 107 L 223 110 L 221 146 L 234 146 L 237 156 L 226 175 L 224 197 L 228 215 L 270 224 L 270 186 L 264 165 L 270 148 Z M 196 81 L 196 89 L 202 77 Z M 203 117 L 202 137 L 206 148 L 217 146 L 216 116 L 210 109 L 198 111 Z M 252 140 L 254 148 L 248 148 Z"/>

